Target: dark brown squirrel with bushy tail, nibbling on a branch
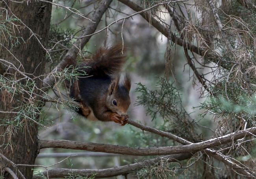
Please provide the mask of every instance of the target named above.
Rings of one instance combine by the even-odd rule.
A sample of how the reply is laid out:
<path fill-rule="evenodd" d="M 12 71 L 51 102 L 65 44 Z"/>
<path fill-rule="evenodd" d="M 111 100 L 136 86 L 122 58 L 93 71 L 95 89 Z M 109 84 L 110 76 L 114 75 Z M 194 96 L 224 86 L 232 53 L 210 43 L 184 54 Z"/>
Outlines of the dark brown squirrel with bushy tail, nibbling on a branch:
<path fill-rule="evenodd" d="M 69 96 L 82 105 L 78 113 L 87 119 L 113 121 L 121 125 L 128 122 L 126 111 L 131 103 L 131 80 L 126 74 L 124 81 L 119 83 L 125 62 L 122 51 L 121 45 L 102 47 L 90 60 L 83 59 L 80 65 L 73 64 L 86 75 L 69 82 Z"/>

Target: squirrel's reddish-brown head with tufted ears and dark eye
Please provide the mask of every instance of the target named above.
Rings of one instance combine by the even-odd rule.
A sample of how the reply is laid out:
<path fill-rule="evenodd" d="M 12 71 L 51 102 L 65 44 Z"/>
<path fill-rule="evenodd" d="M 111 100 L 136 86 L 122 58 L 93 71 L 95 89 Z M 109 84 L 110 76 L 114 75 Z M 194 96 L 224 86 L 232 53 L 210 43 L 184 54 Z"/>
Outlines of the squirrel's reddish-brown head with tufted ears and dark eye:
<path fill-rule="evenodd" d="M 131 100 L 129 96 L 129 91 L 131 88 L 131 80 L 128 75 L 125 75 L 124 82 L 119 84 L 120 76 L 115 78 L 109 88 L 107 95 L 107 107 L 114 113 L 120 116 L 126 116 L 126 111 L 128 110 Z"/>

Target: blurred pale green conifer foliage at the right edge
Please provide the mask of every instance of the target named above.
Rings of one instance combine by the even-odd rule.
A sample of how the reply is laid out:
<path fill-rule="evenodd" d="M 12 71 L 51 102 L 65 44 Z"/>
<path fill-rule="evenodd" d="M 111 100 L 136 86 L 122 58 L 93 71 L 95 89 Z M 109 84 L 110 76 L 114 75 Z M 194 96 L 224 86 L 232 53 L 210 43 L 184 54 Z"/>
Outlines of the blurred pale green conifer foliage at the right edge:
<path fill-rule="evenodd" d="M 226 91 L 225 91 L 225 85 Z M 204 117 L 208 112 L 214 114 L 216 118 L 234 118 L 239 121 L 241 118 L 255 125 L 256 98 L 248 96 L 247 91 L 236 82 L 220 82 L 213 87 L 208 101 L 204 101 L 198 107 L 202 109 L 201 116 Z"/>

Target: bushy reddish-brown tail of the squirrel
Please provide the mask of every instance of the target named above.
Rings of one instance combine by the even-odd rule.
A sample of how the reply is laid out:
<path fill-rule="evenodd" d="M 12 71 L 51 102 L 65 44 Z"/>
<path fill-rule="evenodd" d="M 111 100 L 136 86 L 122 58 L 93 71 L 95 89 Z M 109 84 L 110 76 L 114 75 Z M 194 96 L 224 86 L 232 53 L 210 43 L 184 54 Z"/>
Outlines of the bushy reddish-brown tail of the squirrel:
<path fill-rule="evenodd" d="M 85 59 L 84 65 L 90 66 L 86 69 L 87 74 L 115 76 L 121 71 L 125 62 L 125 55 L 122 52 L 124 52 L 122 45 L 100 48 L 90 60 Z"/>

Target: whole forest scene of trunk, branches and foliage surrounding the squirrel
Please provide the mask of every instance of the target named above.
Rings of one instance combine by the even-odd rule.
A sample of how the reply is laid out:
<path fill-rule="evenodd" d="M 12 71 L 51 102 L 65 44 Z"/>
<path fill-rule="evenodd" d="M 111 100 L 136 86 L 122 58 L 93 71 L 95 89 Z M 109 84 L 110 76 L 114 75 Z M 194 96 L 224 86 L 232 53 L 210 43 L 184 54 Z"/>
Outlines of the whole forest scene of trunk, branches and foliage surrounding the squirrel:
<path fill-rule="evenodd" d="M 3 1 L 0 15 L 2 178 L 256 176 L 252 0 Z M 79 75 L 64 61 L 111 44 L 132 78 L 125 126 L 77 115 L 61 86 Z"/>

